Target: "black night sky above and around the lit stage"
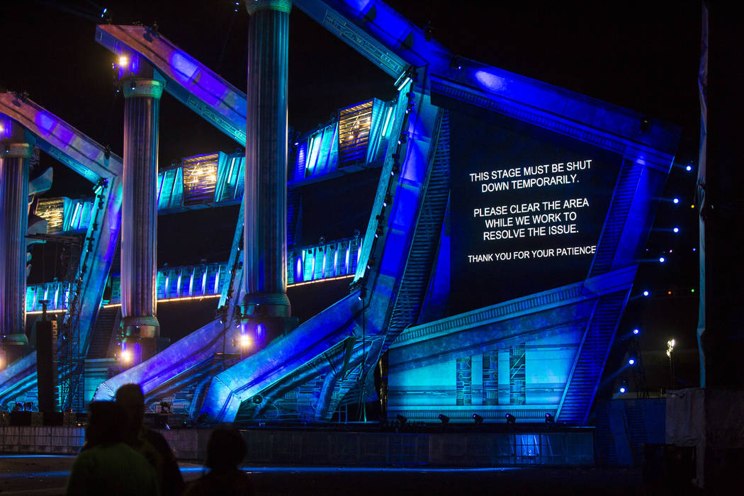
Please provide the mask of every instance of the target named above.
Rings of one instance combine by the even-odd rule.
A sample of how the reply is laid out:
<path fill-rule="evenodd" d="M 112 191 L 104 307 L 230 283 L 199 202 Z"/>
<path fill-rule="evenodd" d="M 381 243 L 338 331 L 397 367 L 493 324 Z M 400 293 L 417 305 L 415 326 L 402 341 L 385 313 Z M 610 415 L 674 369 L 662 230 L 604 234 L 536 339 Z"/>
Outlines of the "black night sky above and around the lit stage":
<path fill-rule="evenodd" d="M 434 38 L 461 57 L 682 127 L 676 165 L 696 161 L 698 2 L 388 3 L 417 26 L 431 22 Z M 484 9 L 486 3 L 490 7 Z M 231 0 L 4 1 L 0 7 L 0 88 L 28 91 L 32 100 L 121 155 L 124 100 L 113 91 L 114 57 L 94 42 L 95 19 L 103 7 L 108 7 L 112 21 L 118 24 L 157 22 L 164 36 L 244 88 L 248 15 L 243 5 L 234 13 Z M 393 83 L 301 10 L 295 7 L 292 11 L 289 123 L 293 129 L 307 132 L 339 107 L 370 97 L 391 99 Z M 164 94 L 161 164 L 218 149 L 231 152 L 236 147 L 230 138 Z M 56 181 L 48 196 L 90 196 L 90 185 L 54 159 L 42 156 L 42 164 L 55 167 Z M 634 300 L 623 321 L 623 326 L 648 328 L 641 341 L 644 350 L 663 354 L 667 338 L 674 335 L 679 347 L 691 353 L 689 370 L 678 370 L 678 376 L 692 385 L 697 380 L 696 294 L 690 293 L 697 285 L 697 259 L 692 251 L 696 216 L 690 209 L 695 173 L 675 167 L 670 174 L 666 195 L 679 196 L 682 204 L 662 204 L 657 226 L 679 225 L 682 233 L 652 233 L 650 257 L 669 249 L 673 254 L 664 265 L 644 265 L 638 277 L 639 291 L 648 287 L 661 296 Z"/>

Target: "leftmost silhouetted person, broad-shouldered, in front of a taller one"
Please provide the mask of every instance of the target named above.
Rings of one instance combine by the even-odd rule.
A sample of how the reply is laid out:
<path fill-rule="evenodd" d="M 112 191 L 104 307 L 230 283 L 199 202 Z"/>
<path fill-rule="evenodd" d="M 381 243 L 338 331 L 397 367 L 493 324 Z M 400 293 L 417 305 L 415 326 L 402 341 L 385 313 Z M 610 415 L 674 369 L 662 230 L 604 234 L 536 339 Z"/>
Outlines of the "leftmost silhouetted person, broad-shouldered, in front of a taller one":
<path fill-rule="evenodd" d="M 124 408 L 113 402 L 92 402 L 89 412 L 86 444 L 72 464 L 67 494 L 159 495 L 155 470 L 124 442 Z"/>

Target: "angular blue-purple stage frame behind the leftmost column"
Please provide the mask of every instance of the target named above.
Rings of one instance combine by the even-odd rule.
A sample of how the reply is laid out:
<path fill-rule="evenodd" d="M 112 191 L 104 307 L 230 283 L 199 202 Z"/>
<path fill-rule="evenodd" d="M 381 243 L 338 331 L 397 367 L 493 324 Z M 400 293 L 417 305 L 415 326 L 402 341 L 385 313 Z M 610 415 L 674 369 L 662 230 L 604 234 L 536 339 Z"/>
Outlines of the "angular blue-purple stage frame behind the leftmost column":
<path fill-rule="evenodd" d="M 84 362 L 121 228 L 122 161 L 106 147 L 22 95 L 0 93 L 0 119 L 21 126 L 27 135 L 35 138 L 36 146 L 94 184 L 95 196 L 88 209 L 89 222 L 84 227 L 85 242 L 77 264 L 75 283 L 71 287 L 57 285 L 54 297 L 68 309 L 60 333 L 62 342 L 58 347 L 60 407 L 83 410 L 80 389 L 83 387 Z M 25 226 L 20 229 L 22 232 L 17 235 L 23 239 Z M 22 248 L 25 257 L 25 245 Z M 24 289 L 24 298 L 19 303 L 22 308 L 28 305 L 27 293 L 28 290 Z M 7 402 L 31 391 L 35 397 L 35 389 L 35 351 L 0 371 L 0 404 L 7 405 Z"/>

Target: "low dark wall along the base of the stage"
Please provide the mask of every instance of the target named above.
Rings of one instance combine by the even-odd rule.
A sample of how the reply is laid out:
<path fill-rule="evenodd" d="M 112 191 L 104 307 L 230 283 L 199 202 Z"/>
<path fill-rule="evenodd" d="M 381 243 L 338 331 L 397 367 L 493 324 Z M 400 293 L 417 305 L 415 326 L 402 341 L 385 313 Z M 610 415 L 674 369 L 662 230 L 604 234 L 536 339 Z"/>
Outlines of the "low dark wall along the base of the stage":
<path fill-rule="evenodd" d="M 179 460 L 205 459 L 210 429 L 159 431 Z M 434 433 L 247 430 L 246 463 L 298 466 L 587 466 L 594 433 Z M 83 428 L 0 428 L 0 451 L 77 454 Z"/>

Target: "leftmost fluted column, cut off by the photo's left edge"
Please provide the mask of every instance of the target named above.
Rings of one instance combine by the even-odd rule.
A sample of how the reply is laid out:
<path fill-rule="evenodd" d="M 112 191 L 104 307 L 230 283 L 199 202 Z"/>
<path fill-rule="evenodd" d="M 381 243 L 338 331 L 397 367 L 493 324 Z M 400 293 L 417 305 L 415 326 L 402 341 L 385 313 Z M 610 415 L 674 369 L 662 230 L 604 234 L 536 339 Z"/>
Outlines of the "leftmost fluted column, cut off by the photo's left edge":
<path fill-rule="evenodd" d="M 0 119 L 0 336 L 7 361 L 19 358 L 26 332 L 28 167 L 33 138 Z M 5 364 L 1 364 L 4 367 Z"/>

